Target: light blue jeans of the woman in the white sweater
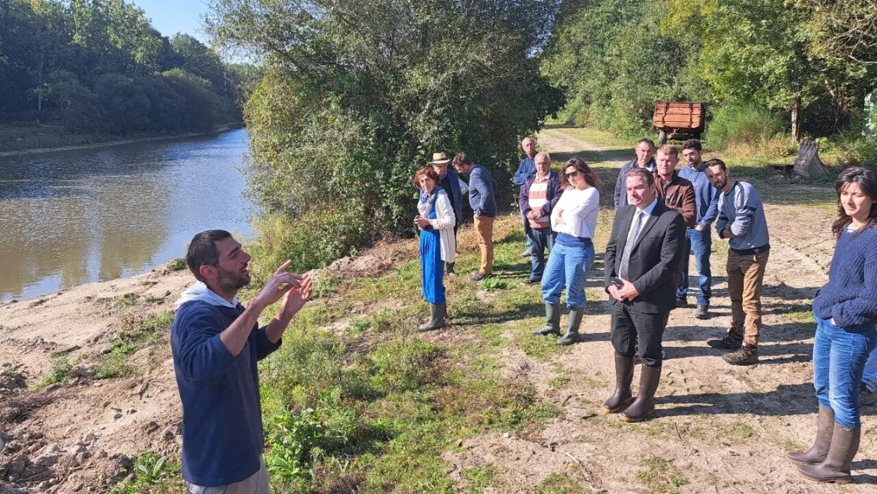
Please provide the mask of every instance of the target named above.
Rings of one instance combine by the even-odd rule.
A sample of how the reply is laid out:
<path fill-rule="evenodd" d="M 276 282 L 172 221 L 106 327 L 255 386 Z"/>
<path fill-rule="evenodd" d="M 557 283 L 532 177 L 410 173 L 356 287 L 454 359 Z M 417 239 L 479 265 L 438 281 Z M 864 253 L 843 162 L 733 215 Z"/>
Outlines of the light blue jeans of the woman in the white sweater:
<path fill-rule="evenodd" d="M 542 299 L 545 304 L 560 304 L 560 290 L 567 285 L 567 307 L 582 309 L 585 306 L 585 282 L 588 269 L 594 263 L 594 244 L 570 247 L 554 244 L 548 255 L 545 274 L 542 275 Z"/>

